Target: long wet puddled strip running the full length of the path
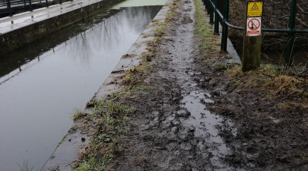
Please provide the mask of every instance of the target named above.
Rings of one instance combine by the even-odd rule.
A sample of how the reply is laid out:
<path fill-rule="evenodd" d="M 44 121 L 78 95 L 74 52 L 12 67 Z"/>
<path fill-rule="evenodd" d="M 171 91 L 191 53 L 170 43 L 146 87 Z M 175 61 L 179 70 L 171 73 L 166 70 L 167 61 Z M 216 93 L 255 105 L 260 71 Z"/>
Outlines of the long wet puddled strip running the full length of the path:
<path fill-rule="evenodd" d="M 206 103 L 213 103 L 211 95 L 205 89 L 198 88 L 200 72 L 196 71 L 193 57 L 197 55 L 194 44 L 194 12 L 195 7 L 191 1 L 184 1 L 182 5 L 181 17 L 178 20 L 176 35 L 172 36 L 174 45 L 168 50 L 173 58 L 170 61 L 177 83 L 180 84 L 183 99 L 180 101 L 181 109 L 177 111 L 180 124 L 193 133 L 195 143 L 197 143 L 196 153 L 207 158 L 210 165 L 206 165 L 206 170 L 231 171 L 235 168 L 224 161 L 225 156 L 231 155 L 232 151 L 227 147 L 225 141 L 220 136 L 221 128 L 225 125 L 233 125 L 231 120 L 215 115 L 206 109 Z M 186 111 L 188 114 L 183 117 Z M 236 135 L 236 129 L 230 130 Z M 196 168 L 197 169 L 197 168 Z M 199 169 L 197 169 L 199 170 Z M 241 170 L 241 169 L 237 169 Z"/>

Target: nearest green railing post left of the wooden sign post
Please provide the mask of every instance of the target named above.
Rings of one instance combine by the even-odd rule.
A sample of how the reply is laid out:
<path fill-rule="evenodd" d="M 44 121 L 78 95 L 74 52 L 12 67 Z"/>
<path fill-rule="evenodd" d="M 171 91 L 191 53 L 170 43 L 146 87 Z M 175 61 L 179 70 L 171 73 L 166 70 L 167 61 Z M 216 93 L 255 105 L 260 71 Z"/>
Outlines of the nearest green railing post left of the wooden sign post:
<path fill-rule="evenodd" d="M 229 0 L 224 2 L 224 18 L 222 20 L 222 34 L 221 34 L 221 50 L 227 52 L 227 40 L 228 40 L 228 26 L 225 22 L 229 20 Z"/>

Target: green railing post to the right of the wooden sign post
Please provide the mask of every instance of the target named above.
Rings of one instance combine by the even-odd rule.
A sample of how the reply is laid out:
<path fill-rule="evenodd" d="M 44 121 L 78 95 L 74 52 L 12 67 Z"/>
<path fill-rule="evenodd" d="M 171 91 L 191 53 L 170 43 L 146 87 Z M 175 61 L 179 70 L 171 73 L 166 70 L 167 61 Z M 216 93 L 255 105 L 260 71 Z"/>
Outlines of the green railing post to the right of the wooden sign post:
<path fill-rule="evenodd" d="M 296 18 L 296 0 L 291 1 L 291 11 L 289 19 L 289 29 L 288 29 L 288 43 L 286 46 L 285 62 L 286 67 L 291 67 L 293 63 L 293 45 L 294 45 L 294 34 L 295 34 L 295 18 Z"/>

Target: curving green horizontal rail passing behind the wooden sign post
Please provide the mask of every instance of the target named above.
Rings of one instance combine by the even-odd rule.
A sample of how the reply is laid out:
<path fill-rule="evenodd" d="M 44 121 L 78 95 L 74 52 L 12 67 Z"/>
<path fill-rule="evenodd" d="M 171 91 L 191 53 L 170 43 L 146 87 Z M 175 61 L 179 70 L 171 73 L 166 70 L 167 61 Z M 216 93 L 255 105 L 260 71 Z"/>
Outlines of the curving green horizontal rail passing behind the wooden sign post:
<path fill-rule="evenodd" d="M 212 4 L 213 8 L 215 9 L 215 4 L 214 4 L 213 1 L 211 1 L 211 4 Z M 219 11 L 219 9 L 217 8 L 217 9 L 215 9 L 215 10 L 216 10 L 217 14 L 219 15 L 219 17 L 220 17 L 221 19 L 223 19 L 224 17 L 223 17 L 223 15 L 221 14 L 221 12 Z M 231 28 L 233 28 L 233 29 L 236 29 L 236 30 L 244 30 L 244 27 L 234 26 L 234 25 L 230 24 L 230 23 L 227 22 L 227 21 L 223 21 L 223 22 L 224 22 L 228 27 L 231 27 Z M 291 32 L 291 31 L 288 30 L 288 29 L 266 29 L 266 28 L 263 28 L 263 29 L 262 29 L 262 32 L 289 33 L 289 32 Z M 298 29 L 296 29 L 296 30 L 294 31 L 294 33 L 308 33 L 308 30 L 298 30 Z"/>

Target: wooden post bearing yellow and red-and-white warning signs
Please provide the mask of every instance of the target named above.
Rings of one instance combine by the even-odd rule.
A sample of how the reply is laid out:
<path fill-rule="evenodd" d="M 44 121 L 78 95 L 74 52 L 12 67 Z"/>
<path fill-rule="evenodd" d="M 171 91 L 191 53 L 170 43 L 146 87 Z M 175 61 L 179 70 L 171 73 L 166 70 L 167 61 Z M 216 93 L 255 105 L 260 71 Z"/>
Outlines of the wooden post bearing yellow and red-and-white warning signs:
<path fill-rule="evenodd" d="M 263 1 L 249 1 L 246 4 L 242 57 L 243 72 L 260 67 L 262 8 Z"/>

